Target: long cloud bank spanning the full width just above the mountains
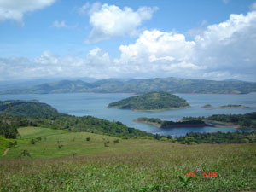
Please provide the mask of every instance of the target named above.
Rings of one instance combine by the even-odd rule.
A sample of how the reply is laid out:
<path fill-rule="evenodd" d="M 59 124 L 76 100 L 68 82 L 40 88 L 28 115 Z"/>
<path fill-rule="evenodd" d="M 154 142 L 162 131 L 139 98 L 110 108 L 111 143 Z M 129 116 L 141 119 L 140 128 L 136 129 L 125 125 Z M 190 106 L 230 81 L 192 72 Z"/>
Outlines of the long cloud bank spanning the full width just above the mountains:
<path fill-rule="evenodd" d="M 84 57 L 44 51 L 33 61 L 0 59 L 3 79 L 32 76 L 94 78 L 178 77 L 256 81 L 256 11 L 230 15 L 187 40 L 177 32 L 146 30 L 134 42 L 119 46 L 120 55 L 96 47 Z"/>

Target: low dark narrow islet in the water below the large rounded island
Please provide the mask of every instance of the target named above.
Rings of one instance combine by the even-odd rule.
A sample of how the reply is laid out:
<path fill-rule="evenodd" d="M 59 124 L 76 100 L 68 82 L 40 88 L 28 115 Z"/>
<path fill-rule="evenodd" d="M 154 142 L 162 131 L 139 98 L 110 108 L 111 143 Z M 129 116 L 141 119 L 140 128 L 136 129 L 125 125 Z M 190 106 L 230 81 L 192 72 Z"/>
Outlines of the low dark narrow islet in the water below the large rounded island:
<path fill-rule="evenodd" d="M 134 121 L 150 124 L 157 126 L 159 128 L 173 128 L 173 127 L 205 127 L 205 126 L 213 126 L 210 124 L 205 123 L 202 120 L 185 120 L 185 121 L 167 121 L 167 120 L 161 120 L 159 118 L 147 118 L 142 117 L 138 119 L 134 119 Z"/>

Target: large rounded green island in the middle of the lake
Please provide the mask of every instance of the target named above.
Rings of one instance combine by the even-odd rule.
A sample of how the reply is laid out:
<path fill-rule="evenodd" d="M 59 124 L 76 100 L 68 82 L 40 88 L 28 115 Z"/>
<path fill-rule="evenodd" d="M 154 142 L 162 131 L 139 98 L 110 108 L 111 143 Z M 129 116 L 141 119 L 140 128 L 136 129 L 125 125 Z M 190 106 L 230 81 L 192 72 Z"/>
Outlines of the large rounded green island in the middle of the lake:
<path fill-rule="evenodd" d="M 119 102 L 111 102 L 108 105 L 108 108 L 131 109 L 135 111 L 161 111 L 189 107 L 189 103 L 183 98 L 163 91 L 131 96 Z"/>

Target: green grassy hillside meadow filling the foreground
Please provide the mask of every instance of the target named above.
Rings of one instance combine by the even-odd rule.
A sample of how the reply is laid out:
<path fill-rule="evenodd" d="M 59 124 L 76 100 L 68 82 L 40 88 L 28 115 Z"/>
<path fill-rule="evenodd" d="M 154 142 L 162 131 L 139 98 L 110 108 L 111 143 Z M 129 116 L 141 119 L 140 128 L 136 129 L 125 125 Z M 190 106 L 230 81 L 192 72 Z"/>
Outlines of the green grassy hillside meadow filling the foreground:
<path fill-rule="evenodd" d="M 114 144 L 115 137 L 85 132 L 37 127 L 19 132 L 18 147 L 0 156 L 0 191 L 256 190 L 255 143 L 182 145 L 119 139 Z M 42 140 L 31 144 L 36 137 Z M 32 157 L 20 160 L 25 149 Z M 195 177 L 187 180 L 188 172 Z M 205 178 L 203 172 L 217 172 L 217 177 Z"/>

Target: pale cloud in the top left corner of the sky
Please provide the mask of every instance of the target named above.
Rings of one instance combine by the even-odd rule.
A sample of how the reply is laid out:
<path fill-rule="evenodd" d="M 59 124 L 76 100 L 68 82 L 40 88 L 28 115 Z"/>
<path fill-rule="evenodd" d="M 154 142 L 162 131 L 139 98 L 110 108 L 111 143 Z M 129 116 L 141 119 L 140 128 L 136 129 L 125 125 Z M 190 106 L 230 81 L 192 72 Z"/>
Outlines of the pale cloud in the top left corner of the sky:
<path fill-rule="evenodd" d="M 23 15 L 36 9 L 43 9 L 55 0 L 0 0 L 0 21 L 16 20 L 23 25 Z"/>

